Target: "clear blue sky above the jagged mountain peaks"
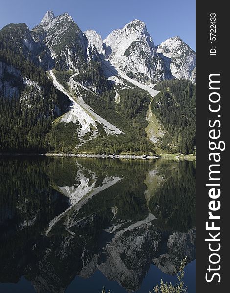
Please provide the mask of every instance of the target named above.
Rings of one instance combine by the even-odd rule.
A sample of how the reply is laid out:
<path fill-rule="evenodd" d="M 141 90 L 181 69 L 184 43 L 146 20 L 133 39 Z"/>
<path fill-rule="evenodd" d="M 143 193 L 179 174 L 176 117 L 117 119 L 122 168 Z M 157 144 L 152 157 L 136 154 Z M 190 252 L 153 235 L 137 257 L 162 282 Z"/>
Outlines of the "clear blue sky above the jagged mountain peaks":
<path fill-rule="evenodd" d="M 68 12 L 82 31 L 93 29 L 104 39 L 133 19 L 143 21 L 155 45 L 179 36 L 196 46 L 195 0 L 0 0 L 0 29 L 8 23 L 39 24 L 47 10 Z"/>

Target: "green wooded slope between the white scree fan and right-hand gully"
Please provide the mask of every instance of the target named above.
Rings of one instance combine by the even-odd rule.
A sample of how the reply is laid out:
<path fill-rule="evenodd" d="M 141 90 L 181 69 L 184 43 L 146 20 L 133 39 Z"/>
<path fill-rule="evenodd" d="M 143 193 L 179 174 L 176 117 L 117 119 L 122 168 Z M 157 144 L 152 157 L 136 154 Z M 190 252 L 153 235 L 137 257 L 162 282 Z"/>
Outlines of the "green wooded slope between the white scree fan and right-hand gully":
<path fill-rule="evenodd" d="M 85 102 L 101 117 L 121 129 L 124 134 L 106 135 L 98 124 L 98 136 L 88 140 L 78 148 L 79 152 L 105 154 L 155 154 L 155 146 L 147 139 L 145 119 L 150 96 L 143 90 L 123 90 L 120 92 L 120 103 L 114 97 L 108 99 L 85 91 L 82 95 Z"/>

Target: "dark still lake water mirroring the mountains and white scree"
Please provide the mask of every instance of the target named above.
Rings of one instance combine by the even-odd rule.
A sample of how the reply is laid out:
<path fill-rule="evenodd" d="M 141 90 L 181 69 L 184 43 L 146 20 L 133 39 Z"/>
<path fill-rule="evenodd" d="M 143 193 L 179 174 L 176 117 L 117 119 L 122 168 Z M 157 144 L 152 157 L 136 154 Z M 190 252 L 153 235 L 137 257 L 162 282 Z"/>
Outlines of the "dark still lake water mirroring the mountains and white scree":
<path fill-rule="evenodd" d="M 195 166 L 0 158 L 1 293 L 195 293 Z"/>

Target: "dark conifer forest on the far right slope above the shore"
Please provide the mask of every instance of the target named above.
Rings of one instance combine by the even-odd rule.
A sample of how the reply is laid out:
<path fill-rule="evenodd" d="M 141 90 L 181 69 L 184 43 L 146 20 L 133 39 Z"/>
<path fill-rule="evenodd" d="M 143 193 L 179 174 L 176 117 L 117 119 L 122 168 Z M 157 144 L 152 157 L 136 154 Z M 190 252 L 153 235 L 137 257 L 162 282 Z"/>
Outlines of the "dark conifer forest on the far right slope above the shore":
<path fill-rule="evenodd" d="M 158 83 L 152 112 L 178 142 L 180 153 L 192 154 L 196 145 L 196 88 L 188 80 Z"/>

